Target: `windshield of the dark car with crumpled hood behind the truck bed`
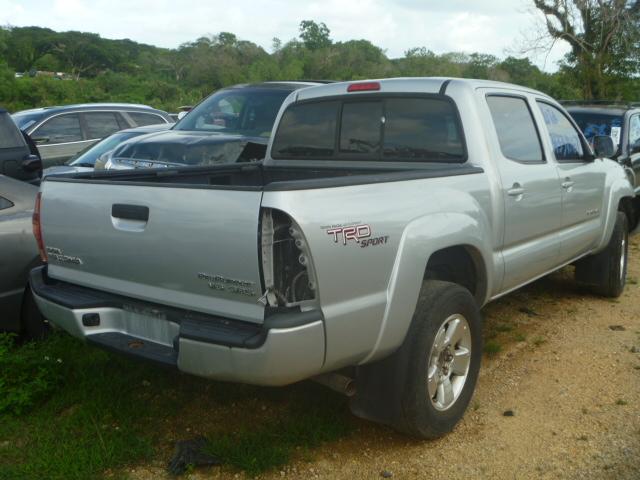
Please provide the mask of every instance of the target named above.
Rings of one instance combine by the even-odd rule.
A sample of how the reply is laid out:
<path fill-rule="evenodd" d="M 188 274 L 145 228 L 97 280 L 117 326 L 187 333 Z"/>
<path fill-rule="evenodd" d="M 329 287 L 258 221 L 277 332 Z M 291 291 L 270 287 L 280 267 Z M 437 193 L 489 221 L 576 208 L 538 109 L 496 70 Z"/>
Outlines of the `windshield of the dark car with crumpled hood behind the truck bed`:
<path fill-rule="evenodd" d="M 204 100 L 173 127 L 211 133 L 269 137 L 290 90 L 231 88 Z"/>

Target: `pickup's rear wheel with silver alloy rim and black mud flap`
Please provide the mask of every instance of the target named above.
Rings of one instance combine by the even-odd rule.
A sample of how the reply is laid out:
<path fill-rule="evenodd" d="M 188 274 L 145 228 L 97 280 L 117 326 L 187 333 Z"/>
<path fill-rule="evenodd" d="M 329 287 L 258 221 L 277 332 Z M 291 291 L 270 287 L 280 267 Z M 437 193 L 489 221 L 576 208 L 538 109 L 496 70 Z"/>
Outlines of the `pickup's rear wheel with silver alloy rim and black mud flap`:
<path fill-rule="evenodd" d="M 471 293 L 425 281 L 402 347 L 358 373 L 352 410 L 416 437 L 442 436 L 464 415 L 481 356 L 480 312 Z"/>

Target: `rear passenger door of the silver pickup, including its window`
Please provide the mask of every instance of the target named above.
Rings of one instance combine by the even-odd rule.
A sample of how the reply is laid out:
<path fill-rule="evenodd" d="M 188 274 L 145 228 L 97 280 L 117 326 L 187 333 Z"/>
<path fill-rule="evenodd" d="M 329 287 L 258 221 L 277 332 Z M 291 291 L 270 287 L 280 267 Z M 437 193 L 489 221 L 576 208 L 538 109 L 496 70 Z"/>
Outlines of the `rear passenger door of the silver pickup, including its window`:
<path fill-rule="evenodd" d="M 501 291 L 552 270 L 558 262 L 561 192 L 555 165 L 545 158 L 531 104 L 524 95 L 486 91 L 491 145 L 504 202 Z M 495 150 L 495 147 L 494 147 Z"/>

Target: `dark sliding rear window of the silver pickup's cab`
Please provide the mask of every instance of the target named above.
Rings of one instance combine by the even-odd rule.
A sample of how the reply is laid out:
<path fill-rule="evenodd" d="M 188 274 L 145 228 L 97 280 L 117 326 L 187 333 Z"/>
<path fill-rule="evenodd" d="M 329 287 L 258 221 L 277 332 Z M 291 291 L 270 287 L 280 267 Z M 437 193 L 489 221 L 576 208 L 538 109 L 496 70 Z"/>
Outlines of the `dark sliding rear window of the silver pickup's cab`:
<path fill-rule="evenodd" d="M 463 163 L 467 159 L 455 104 L 440 95 L 361 95 L 291 104 L 271 157 Z"/>

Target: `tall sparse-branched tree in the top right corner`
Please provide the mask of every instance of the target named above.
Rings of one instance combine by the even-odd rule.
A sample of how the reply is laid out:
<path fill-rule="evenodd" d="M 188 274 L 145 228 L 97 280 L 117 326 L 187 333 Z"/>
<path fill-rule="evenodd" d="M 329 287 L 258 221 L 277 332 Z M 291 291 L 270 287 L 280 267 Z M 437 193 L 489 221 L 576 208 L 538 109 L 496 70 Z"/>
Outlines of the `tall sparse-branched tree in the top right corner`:
<path fill-rule="evenodd" d="M 571 47 L 574 70 L 586 99 L 616 95 L 616 80 L 638 71 L 640 1 L 533 0 L 548 36 Z"/>

